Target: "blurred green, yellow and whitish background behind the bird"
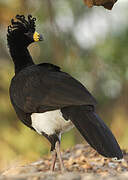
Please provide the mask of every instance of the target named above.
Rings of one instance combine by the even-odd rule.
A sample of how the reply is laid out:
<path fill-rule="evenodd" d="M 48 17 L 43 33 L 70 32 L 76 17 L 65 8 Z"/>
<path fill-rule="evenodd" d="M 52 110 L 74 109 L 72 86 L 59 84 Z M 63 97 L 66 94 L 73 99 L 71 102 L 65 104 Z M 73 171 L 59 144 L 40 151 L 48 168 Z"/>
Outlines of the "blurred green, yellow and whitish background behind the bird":
<path fill-rule="evenodd" d="M 121 147 L 128 148 L 128 2 L 112 11 L 88 9 L 78 0 L 0 0 L 0 169 L 49 154 L 49 143 L 24 126 L 9 99 L 14 75 L 6 34 L 16 14 L 37 18 L 44 41 L 29 47 L 35 63 L 61 66 L 81 81 L 98 101 L 97 112 Z M 62 149 L 85 143 L 74 128 L 62 137 Z"/>

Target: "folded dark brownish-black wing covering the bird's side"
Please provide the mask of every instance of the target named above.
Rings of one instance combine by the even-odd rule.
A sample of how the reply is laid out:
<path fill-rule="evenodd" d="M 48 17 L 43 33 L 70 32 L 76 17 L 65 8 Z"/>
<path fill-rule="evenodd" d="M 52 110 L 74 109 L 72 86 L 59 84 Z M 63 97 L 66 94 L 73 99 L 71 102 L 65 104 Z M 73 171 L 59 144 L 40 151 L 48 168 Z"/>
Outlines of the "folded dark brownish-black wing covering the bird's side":
<path fill-rule="evenodd" d="M 24 112 L 44 112 L 70 105 L 95 105 L 94 97 L 69 74 L 46 64 L 19 72 L 10 86 L 13 102 Z"/>

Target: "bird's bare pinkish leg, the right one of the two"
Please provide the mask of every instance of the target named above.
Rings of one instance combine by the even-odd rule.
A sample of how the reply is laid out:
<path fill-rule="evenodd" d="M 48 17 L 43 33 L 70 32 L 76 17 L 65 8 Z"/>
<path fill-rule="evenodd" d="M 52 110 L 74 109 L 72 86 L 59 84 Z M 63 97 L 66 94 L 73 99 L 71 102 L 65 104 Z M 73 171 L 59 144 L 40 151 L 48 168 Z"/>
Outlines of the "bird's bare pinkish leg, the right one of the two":
<path fill-rule="evenodd" d="M 61 171 L 64 172 L 65 171 L 65 167 L 64 167 L 64 164 L 63 164 L 63 161 L 62 161 L 62 157 L 61 157 L 61 153 L 60 153 L 60 143 L 59 143 L 59 141 L 57 141 L 56 144 L 55 144 L 55 150 L 56 150 L 59 162 L 60 162 Z"/>

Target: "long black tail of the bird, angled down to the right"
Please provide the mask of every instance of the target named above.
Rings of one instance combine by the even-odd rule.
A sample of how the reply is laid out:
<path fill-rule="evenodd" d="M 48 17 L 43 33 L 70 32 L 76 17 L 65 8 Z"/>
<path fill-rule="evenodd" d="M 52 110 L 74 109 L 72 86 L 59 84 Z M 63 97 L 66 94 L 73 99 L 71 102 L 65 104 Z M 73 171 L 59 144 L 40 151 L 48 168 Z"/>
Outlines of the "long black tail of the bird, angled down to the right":
<path fill-rule="evenodd" d="M 62 109 L 65 119 L 70 119 L 86 141 L 105 157 L 122 159 L 122 151 L 110 129 L 94 112 L 92 106 L 72 106 Z"/>

